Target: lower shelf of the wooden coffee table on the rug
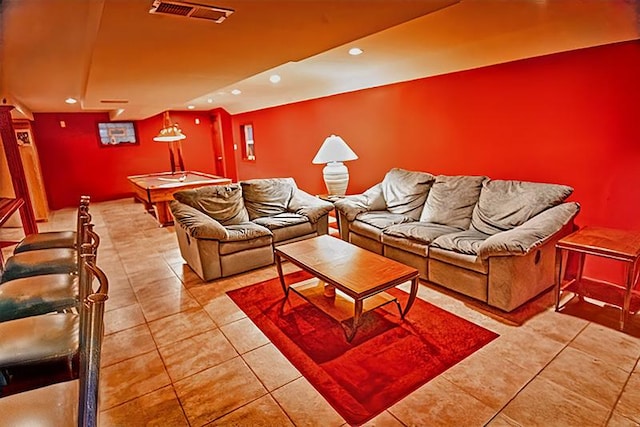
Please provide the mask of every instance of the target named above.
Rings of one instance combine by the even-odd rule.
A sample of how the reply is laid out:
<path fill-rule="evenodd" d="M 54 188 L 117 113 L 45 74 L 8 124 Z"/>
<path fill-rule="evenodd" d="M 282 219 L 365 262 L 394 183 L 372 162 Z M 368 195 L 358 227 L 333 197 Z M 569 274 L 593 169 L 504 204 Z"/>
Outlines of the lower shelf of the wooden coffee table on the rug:
<path fill-rule="evenodd" d="M 325 296 L 325 285 L 326 282 L 314 277 L 302 282 L 291 284 L 287 289 L 294 291 L 311 305 L 318 308 L 332 319 L 338 321 L 345 330 L 347 341 L 351 342 L 358 329 L 358 324 L 354 319 L 355 302 L 352 298 L 337 289 L 333 296 Z M 362 301 L 362 314 L 393 302 L 396 303 L 400 316 L 404 317 L 398 299 L 386 292 L 379 292 L 365 298 Z M 353 322 L 351 322 L 351 325 L 349 326 L 349 322 L 347 321 L 352 319 Z"/>

